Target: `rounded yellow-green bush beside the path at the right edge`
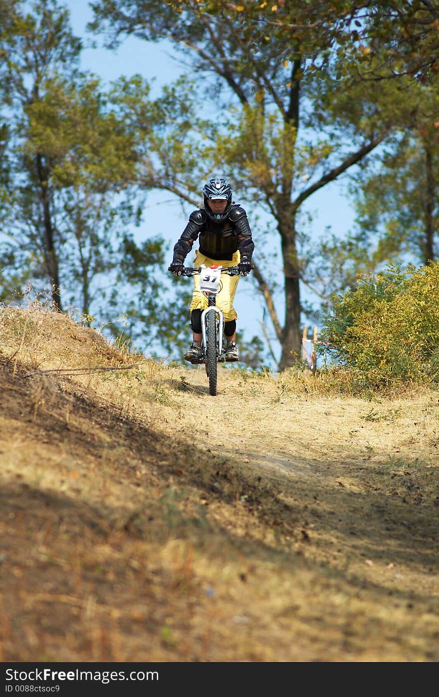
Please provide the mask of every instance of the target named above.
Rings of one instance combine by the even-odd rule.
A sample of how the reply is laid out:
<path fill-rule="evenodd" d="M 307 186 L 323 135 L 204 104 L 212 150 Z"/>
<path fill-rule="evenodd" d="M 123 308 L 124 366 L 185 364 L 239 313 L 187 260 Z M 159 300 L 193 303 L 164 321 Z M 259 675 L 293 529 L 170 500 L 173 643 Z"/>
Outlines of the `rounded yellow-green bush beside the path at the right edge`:
<path fill-rule="evenodd" d="M 334 299 L 323 337 L 369 386 L 439 383 L 439 263 L 362 279 Z"/>

